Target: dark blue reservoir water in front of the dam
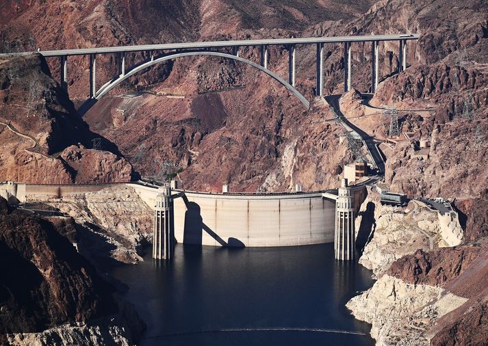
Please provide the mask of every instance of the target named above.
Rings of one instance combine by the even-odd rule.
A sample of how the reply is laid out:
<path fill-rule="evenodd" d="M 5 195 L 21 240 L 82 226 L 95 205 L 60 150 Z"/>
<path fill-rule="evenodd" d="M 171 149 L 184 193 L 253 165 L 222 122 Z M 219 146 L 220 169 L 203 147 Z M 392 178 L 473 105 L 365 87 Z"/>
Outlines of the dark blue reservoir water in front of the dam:
<path fill-rule="evenodd" d="M 144 260 L 110 271 L 146 321 L 140 345 L 374 345 L 344 306 L 371 272 L 335 261 L 333 244 L 177 244 L 172 263 Z"/>

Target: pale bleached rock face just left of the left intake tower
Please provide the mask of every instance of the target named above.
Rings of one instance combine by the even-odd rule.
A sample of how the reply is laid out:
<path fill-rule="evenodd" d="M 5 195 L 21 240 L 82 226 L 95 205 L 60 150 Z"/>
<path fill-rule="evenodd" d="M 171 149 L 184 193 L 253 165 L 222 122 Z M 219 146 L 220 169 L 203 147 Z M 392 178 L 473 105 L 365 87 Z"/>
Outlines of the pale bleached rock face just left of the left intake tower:
<path fill-rule="evenodd" d="M 137 263 L 144 246 L 152 242 L 153 210 L 130 187 L 107 187 L 44 202 L 76 220 L 78 250 L 96 263 L 107 258 Z"/>

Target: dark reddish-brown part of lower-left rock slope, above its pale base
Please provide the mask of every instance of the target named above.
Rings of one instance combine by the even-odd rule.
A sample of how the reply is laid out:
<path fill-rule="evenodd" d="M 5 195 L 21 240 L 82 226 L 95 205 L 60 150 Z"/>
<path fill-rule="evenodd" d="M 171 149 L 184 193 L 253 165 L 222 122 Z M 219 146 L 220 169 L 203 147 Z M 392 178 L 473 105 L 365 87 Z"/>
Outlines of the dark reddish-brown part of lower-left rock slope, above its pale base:
<path fill-rule="evenodd" d="M 21 211 L 3 212 L 0 247 L 5 278 L 0 334 L 40 332 L 117 312 L 112 288 L 50 222 Z"/>

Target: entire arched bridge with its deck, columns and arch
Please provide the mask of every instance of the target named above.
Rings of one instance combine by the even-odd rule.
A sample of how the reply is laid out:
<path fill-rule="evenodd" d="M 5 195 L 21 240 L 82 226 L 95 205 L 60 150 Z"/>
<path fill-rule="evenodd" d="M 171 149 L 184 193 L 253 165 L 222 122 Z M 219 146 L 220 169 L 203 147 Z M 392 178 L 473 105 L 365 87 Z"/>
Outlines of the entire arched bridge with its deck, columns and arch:
<path fill-rule="evenodd" d="M 351 88 L 351 72 L 352 72 L 352 42 L 372 42 L 374 49 L 374 57 L 372 59 L 372 68 L 376 71 L 374 78 L 372 78 L 371 90 L 374 91 L 378 84 L 378 44 L 384 41 L 398 40 L 400 42 L 399 56 L 402 62 L 401 67 L 398 70 L 402 70 L 407 67 L 407 54 L 406 46 L 407 40 L 418 40 L 420 36 L 418 34 L 396 34 L 396 35 L 376 35 L 376 36 L 336 36 L 336 37 L 319 37 L 319 38 L 278 38 L 278 39 L 263 39 L 263 40 L 229 40 L 229 41 L 212 41 L 212 42 L 184 42 L 184 43 L 166 43 L 166 44 L 141 44 L 134 46 L 112 46 L 112 47 L 100 47 L 100 48 L 86 48 L 86 49 L 61 49 L 57 51 L 37 51 L 37 52 L 22 52 L 22 53 L 8 53 L 0 54 L 3 56 L 12 55 L 28 55 L 32 53 L 40 53 L 44 57 L 58 57 L 60 58 L 60 83 L 64 89 L 68 88 L 68 57 L 71 55 L 88 55 L 90 57 L 90 98 L 84 104 L 84 109 L 81 112 L 86 111 L 94 103 L 103 97 L 107 92 L 116 87 L 120 82 L 124 81 L 134 73 L 149 68 L 154 64 L 159 64 L 170 59 L 176 59 L 177 57 L 188 57 L 192 55 L 214 55 L 220 57 L 226 57 L 229 59 L 235 59 L 238 62 L 251 65 L 258 70 L 265 72 L 272 78 L 276 79 L 279 83 L 285 86 L 290 92 L 292 92 L 298 99 L 309 107 L 309 101 L 296 90 L 295 79 L 295 47 L 297 44 L 316 44 L 317 57 L 316 57 L 316 95 L 323 95 L 323 76 L 324 76 L 324 44 L 331 43 L 343 43 L 344 44 L 344 90 L 350 90 Z M 270 46 L 285 46 L 289 51 L 289 71 L 288 81 L 281 79 L 281 77 L 275 75 L 268 69 L 269 59 L 269 47 Z M 259 64 L 251 62 L 248 59 L 243 59 L 239 56 L 239 48 L 241 46 L 255 46 L 260 51 Z M 218 51 L 218 50 L 221 51 Z M 161 52 L 159 55 L 155 55 L 155 51 Z M 227 53 L 231 51 L 232 53 Z M 147 59 L 144 62 L 126 68 L 125 55 L 128 53 L 145 52 L 144 56 Z M 225 53 L 224 53 L 225 52 Z M 119 64 L 118 75 L 107 81 L 97 90 L 97 55 L 102 54 L 115 54 L 116 61 Z"/>

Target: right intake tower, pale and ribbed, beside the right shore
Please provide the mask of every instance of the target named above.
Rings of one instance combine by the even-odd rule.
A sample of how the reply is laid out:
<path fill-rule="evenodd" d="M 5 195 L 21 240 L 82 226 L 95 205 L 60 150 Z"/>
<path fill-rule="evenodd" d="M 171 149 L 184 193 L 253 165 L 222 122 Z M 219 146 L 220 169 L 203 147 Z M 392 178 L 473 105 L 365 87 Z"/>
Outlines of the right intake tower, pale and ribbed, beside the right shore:
<path fill-rule="evenodd" d="M 347 179 L 342 179 L 339 196 L 335 202 L 334 254 L 340 261 L 355 258 L 355 212 Z"/>

